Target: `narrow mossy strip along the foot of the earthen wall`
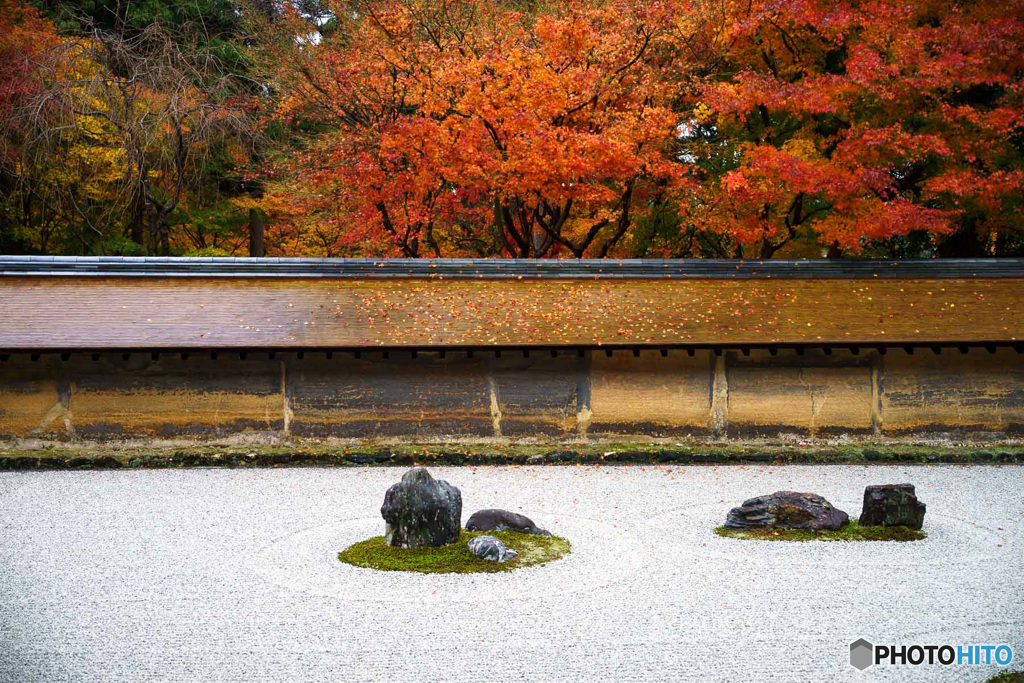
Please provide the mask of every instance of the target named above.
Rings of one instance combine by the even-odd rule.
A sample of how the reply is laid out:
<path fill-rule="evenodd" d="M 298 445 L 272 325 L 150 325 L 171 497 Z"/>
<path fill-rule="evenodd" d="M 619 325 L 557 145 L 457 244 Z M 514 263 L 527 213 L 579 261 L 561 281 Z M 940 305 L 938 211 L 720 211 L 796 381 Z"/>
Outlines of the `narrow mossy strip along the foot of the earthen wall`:
<path fill-rule="evenodd" d="M 413 465 L 742 465 L 742 464 L 1024 464 L 1024 444 L 843 445 L 657 442 L 380 444 L 326 447 L 196 446 L 177 449 L 46 446 L 0 450 L 0 471 L 177 467 L 345 467 Z"/>

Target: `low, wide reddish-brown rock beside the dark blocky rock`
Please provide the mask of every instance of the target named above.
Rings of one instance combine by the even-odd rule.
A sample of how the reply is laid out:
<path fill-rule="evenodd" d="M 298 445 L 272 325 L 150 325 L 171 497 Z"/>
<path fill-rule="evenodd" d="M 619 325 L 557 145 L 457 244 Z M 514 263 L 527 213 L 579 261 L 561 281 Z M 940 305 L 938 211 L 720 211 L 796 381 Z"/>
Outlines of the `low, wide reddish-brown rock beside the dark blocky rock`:
<path fill-rule="evenodd" d="M 835 531 L 850 521 L 850 516 L 817 494 L 777 490 L 758 496 L 738 508 L 729 510 L 726 528 L 806 528 Z"/>

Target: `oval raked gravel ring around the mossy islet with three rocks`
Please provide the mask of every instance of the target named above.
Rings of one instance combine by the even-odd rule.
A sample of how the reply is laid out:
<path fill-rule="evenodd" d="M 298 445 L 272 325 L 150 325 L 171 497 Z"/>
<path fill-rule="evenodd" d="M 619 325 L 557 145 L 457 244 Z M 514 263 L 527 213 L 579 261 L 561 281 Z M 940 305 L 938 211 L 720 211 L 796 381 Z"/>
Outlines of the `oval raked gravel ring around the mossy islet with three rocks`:
<path fill-rule="evenodd" d="M 538 511 L 541 515 L 543 511 Z M 282 537 L 253 556 L 265 579 L 295 591 L 345 600 L 468 602 L 511 600 L 585 591 L 636 572 L 643 546 L 609 521 L 543 512 L 556 536 L 572 551 L 548 564 L 501 573 L 424 574 L 379 571 L 344 564 L 338 553 L 384 532 L 380 517 L 341 519 Z"/>

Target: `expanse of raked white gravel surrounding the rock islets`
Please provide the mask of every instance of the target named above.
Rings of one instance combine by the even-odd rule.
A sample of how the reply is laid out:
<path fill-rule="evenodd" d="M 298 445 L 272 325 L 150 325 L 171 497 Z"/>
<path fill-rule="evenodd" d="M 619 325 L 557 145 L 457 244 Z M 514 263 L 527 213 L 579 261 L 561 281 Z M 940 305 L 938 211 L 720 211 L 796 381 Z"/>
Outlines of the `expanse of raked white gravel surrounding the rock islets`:
<path fill-rule="evenodd" d="M 432 468 L 572 542 L 503 574 L 384 573 L 401 469 L 0 474 L 0 681 L 983 681 L 849 644 L 1008 643 L 1024 668 L 1024 468 Z M 909 481 L 927 541 L 754 543 L 712 528 L 812 490 L 855 517 Z"/>

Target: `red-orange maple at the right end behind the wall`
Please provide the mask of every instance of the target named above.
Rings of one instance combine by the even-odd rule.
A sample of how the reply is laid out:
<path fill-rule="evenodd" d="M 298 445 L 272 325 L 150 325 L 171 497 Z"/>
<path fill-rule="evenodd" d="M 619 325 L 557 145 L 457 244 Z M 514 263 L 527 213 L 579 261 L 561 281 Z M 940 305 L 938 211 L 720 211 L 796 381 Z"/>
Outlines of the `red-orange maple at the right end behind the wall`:
<path fill-rule="evenodd" d="M 1021 229 L 1020 0 L 735 0 L 694 20 L 709 67 L 689 217 L 737 253 L 802 231 L 838 254 L 957 229 L 991 252 Z"/>

